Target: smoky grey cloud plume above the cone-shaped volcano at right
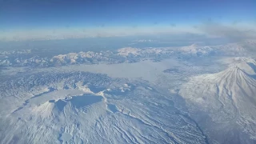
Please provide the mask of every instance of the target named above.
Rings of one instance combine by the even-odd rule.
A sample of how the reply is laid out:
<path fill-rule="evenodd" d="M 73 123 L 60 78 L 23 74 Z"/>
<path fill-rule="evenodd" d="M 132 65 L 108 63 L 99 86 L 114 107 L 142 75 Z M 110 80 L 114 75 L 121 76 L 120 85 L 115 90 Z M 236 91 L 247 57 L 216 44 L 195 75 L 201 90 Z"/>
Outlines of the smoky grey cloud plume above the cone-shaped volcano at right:
<path fill-rule="evenodd" d="M 218 38 L 227 38 L 234 42 L 256 38 L 255 28 L 248 25 L 225 25 L 218 22 L 205 22 L 202 26 L 197 26 L 197 28 L 207 35 Z"/>

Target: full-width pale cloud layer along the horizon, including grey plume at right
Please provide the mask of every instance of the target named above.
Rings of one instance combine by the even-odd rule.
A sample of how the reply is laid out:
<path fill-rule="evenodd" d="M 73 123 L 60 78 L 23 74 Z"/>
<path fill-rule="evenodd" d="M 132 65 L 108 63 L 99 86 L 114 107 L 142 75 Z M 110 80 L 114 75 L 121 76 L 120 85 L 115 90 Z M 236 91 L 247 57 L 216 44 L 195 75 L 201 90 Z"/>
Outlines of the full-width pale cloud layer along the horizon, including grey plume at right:
<path fill-rule="evenodd" d="M 206 22 L 198 26 L 126 26 L 98 28 L 66 28 L 47 30 L 2 30 L 0 41 L 47 40 L 66 38 L 118 37 L 147 34 L 204 34 L 209 37 L 240 41 L 256 38 L 256 27 L 248 23 L 239 25 Z"/>

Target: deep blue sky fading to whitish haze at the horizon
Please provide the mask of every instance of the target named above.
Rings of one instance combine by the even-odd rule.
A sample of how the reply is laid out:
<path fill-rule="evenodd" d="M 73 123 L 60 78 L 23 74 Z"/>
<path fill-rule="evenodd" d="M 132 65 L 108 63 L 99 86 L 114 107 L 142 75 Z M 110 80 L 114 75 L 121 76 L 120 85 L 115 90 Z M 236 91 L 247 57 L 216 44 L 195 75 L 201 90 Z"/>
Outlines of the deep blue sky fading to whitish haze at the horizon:
<path fill-rule="evenodd" d="M 6 41 L 208 34 L 211 26 L 248 31 L 254 25 L 255 0 L 0 0 Z"/>

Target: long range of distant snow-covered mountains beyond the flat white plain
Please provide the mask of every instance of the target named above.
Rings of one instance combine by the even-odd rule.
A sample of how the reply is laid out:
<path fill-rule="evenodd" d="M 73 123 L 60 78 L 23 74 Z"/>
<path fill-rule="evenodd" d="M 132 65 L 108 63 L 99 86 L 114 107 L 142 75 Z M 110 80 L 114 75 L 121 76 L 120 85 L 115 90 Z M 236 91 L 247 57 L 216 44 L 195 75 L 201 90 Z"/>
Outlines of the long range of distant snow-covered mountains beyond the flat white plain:
<path fill-rule="evenodd" d="M 63 66 L 72 64 L 98 64 L 138 62 L 141 59 L 161 60 L 165 58 L 202 58 L 209 56 L 246 56 L 253 54 L 254 41 L 228 43 L 218 46 L 199 46 L 192 44 L 181 47 L 124 47 L 112 51 L 81 51 L 78 53 L 58 54 L 53 57 L 40 57 L 33 50 L 11 50 L 0 52 L 2 66 Z"/>

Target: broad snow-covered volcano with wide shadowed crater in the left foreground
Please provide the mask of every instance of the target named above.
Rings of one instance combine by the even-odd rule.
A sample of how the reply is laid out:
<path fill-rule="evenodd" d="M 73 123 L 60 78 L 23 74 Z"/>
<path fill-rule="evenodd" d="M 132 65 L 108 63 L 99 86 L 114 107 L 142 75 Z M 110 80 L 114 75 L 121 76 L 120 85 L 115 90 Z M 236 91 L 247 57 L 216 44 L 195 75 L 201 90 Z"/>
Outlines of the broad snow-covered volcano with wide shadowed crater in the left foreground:
<path fill-rule="evenodd" d="M 0 143 L 207 143 L 143 80 L 44 72 L 1 83 Z"/>

